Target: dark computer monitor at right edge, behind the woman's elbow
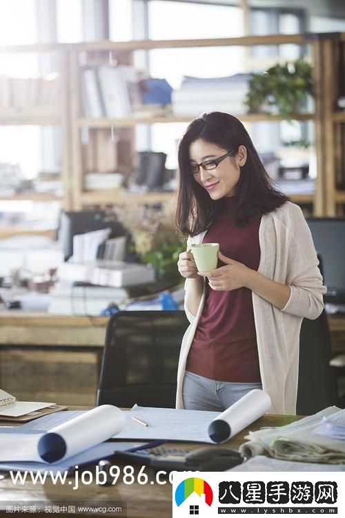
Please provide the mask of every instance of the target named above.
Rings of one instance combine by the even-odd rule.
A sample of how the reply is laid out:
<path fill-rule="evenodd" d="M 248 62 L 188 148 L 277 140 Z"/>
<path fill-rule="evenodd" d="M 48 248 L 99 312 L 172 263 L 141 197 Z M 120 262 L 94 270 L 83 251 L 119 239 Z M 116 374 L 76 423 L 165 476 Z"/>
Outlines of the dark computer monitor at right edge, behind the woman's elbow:
<path fill-rule="evenodd" d="M 307 218 L 322 257 L 327 302 L 345 303 L 345 218 Z"/>

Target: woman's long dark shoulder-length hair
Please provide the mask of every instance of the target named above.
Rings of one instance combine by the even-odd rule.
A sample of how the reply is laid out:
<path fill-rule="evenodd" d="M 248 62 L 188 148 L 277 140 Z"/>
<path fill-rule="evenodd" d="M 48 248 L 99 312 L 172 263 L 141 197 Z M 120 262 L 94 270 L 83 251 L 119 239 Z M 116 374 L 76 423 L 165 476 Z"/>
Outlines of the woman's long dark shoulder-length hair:
<path fill-rule="evenodd" d="M 196 236 L 208 229 L 224 211 L 224 199 L 212 200 L 193 175 L 186 172 L 190 164 L 190 144 L 198 139 L 216 144 L 226 151 L 234 149 L 231 156 L 237 154 L 241 144 L 246 146 L 247 160 L 241 168 L 233 208 L 238 226 L 246 225 L 251 215 L 267 214 L 288 201 L 286 195 L 274 188 L 273 180 L 266 173 L 242 122 L 228 113 L 203 113 L 189 124 L 179 142 L 175 222 L 184 236 Z"/>

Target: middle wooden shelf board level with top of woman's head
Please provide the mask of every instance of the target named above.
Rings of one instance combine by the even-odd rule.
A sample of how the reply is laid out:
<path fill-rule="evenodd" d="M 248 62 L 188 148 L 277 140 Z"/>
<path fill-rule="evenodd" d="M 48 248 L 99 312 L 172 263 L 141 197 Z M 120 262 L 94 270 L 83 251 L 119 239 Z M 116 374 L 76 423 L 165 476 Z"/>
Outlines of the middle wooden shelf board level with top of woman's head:
<path fill-rule="evenodd" d="M 171 122 L 191 122 L 197 117 L 196 115 L 169 115 L 167 117 L 127 117 L 126 119 L 90 119 L 88 117 L 80 117 L 78 119 L 79 127 L 88 128 L 132 128 L 137 124 L 169 124 Z M 242 122 L 276 122 L 285 120 L 281 115 L 265 115 L 264 113 L 245 113 L 244 115 L 235 115 Z M 313 113 L 299 113 L 291 117 L 293 120 L 313 120 Z"/>

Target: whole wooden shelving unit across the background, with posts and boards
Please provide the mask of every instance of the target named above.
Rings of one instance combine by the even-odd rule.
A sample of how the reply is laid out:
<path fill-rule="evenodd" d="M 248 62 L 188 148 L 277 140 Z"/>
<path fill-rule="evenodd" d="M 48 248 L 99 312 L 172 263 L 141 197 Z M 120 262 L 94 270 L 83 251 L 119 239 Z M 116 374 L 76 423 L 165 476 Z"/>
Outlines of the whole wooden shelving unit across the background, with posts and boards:
<path fill-rule="evenodd" d="M 58 44 L 34 46 L 2 47 L 1 52 L 57 52 L 59 55 L 59 70 L 61 74 L 62 97 L 61 106 L 54 113 L 29 113 L 17 111 L 1 113 L 0 125 L 3 124 L 37 124 L 59 125 L 62 134 L 62 181 L 65 189 L 63 207 L 69 210 L 81 210 L 84 207 L 113 204 L 144 204 L 157 203 L 172 197 L 170 193 L 126 193 L 121 189 L 110 191 L 86 191 L 83 188 L 83 155 L 81 151 L 81 132 L 115 128 L 131 142 L 128 155 L 135 156 L 135 128 L 139 124 L 174 124 L 188 123 L 193 117 L 159 115 L 155 117 L 133 116 L 124 119 L 92 119 L 85 117 L 81 110 L 81 60 L 87 63 L 87 57 L 92 56 L 92 63 L 111 52 L 113 59 L 119 63 L 131 64 L 135 50 L 152 50 L 164 48 L 202 48 L 226 46 L 253 46 L 299 44 L 311 45 L 315 69 L 315 113 L 296 114 L 295 119 L 313 120 L 315 122 L 315 146 L 317 152 L 317 179 L 315 194 L 295 194 L 290 198 L 299 204 L 313 206 L 315 215 L 335 215 L 344 211 L 345 181 L 344 179 L 344 122 L 345 112 L 337 112 L 336 98 L 344 95 L 344 43 L 345 33 L 337 35 L 269 35 L 221 39 L 184 39 L 184 40 L 142 40 L 142 41 L 97 41 L 85 44 Z M 102 61 L 104 62 L 104 61 Z M 336 73 L 334 73 L 336 70 Z M 265 113 L 237 115 L 242 122 L 280 121 L 282 117 L 270 116 Z M 344 171 L 342 171 L 344 167 Z M 40 193 L 21 193 L 12 200 L 59 200 L 59 196 Z"/>

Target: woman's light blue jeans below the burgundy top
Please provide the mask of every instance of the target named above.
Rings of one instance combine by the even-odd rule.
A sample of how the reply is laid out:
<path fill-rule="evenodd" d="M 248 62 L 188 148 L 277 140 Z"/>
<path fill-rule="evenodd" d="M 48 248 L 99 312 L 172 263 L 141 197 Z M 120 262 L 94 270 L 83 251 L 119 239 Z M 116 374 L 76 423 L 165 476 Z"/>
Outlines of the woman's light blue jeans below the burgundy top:
<path fill-rule="evenodd" d="M 261 383 L 232 383 L 204 378 L 186 371 L 182 396 L 186 410 L 212 410 L 224 412 L 228 407 L 253 389 L 261 389 Z"/>

